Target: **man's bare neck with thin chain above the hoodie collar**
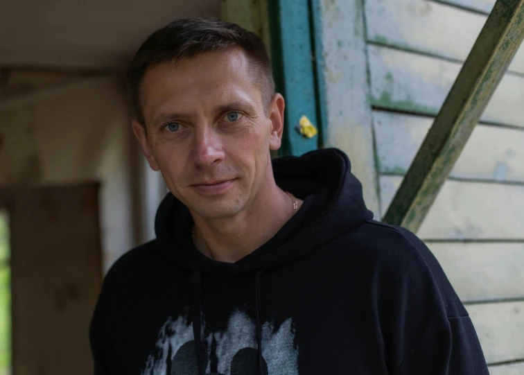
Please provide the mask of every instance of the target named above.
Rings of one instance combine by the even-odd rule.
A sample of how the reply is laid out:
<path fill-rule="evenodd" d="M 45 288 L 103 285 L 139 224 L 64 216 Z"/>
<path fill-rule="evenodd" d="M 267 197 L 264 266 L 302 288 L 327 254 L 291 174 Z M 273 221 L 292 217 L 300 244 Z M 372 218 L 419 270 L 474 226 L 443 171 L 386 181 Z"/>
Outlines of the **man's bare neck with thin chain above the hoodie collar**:
<path fill-rule="evenodd" d="M 265 186 L 267 185 L 267 186 Z M 193 215 L 193 241 L 202 254 L 234 263 L 268 242 L 295 213 L 290 196 L 274 180 L 261 186 L 248 207 L 230 218 Z M 302 200 L 297 198 L 298 207 Z"/>

